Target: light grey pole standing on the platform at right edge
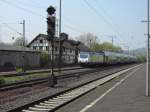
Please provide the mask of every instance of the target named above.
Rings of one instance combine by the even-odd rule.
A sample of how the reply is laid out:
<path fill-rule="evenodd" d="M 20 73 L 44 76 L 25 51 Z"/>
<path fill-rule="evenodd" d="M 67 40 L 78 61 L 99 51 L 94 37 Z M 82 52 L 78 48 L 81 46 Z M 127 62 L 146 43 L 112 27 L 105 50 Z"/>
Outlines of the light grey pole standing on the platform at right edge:
<path fill-rule="evenodd" d="M 150 96 L 150 73 L 149 73 L 149 0 L 147 0 L 147 67 L 146 67 L 146 96 Z"/>

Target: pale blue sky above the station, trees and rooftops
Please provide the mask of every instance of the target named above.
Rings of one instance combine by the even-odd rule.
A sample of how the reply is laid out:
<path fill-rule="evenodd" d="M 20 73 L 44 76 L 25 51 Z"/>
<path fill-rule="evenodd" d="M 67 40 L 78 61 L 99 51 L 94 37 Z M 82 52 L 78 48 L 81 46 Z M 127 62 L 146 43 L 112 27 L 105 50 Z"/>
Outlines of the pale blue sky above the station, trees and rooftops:
<path fill-rule="evenodd" d="M 60 0 L 0 0 L 0 41 L 12 43 L 21 37 L 23 20 L 30 42 L 46 34 L 46 9 L 53 5 L 59 18 Z M 123 49 L 146 47 L 147 0 L 62 0 L 62 32 L 77 39 L 92 33 L 98 42 L 111 42 Z"/>

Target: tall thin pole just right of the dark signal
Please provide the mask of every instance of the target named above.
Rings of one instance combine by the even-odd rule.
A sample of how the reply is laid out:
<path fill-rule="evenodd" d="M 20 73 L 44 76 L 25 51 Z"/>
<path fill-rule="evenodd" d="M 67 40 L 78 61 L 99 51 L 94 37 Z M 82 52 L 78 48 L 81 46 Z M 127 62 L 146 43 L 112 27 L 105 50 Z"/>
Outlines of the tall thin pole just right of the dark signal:
<path fill-rule="evenodd" d="M 61 0 L 59 1 L 59 72 L 61 72 Z"/>

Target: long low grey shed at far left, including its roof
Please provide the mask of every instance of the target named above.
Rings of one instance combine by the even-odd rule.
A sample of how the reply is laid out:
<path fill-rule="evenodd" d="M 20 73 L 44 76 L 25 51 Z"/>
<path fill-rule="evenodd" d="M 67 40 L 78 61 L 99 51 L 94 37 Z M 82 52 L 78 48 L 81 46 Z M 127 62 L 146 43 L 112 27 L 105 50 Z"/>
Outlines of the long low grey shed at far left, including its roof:
<path fill-rule="evenodd" d="M 40 52 L 26 47 L 0 44 L 1 68 L 21 67 L 23 64 L 26 67 L 39 67 Z"/>

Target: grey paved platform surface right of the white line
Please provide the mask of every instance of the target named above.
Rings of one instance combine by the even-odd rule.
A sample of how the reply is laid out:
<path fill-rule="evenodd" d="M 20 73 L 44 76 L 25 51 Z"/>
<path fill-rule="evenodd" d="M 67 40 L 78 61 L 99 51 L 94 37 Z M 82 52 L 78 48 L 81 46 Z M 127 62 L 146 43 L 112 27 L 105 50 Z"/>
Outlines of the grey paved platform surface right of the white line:
<path fill-rule="evenodd" d="M 150 112 L 150 97 L 145 96 L 145 72 L 144 65 L 97 103 L 80 112 Z"/>

